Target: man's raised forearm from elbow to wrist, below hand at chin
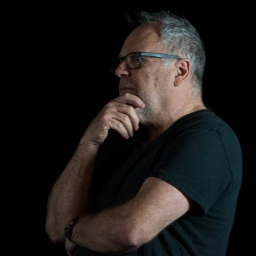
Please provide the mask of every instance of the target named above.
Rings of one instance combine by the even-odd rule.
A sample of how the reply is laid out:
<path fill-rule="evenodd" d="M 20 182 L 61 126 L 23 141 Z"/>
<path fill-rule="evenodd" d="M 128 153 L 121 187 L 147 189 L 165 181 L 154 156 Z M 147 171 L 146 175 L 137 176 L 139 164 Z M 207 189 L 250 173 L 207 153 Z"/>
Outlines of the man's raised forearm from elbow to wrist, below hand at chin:
<path fill-rule="evenodd" d="M 97 148 L 79 145 L 56 180 L 47 204 L 46 232 L 52 241 L 65 241 L 63 230 L 74 216 L 89 211 L 89 186 Z"/>

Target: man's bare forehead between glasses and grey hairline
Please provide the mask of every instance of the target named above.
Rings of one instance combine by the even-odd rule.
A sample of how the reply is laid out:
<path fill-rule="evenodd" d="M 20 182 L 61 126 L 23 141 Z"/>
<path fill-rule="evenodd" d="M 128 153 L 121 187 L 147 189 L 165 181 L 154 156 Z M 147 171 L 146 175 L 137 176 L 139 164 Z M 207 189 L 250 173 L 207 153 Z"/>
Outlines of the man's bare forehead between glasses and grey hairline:
<path fill-rule="evenodd" d="M 142 24 L 126 37 L 121 49 L 121 55 L 134 51 L 159 52 L 164 49 L 160 40 L 159 25 Z"/>

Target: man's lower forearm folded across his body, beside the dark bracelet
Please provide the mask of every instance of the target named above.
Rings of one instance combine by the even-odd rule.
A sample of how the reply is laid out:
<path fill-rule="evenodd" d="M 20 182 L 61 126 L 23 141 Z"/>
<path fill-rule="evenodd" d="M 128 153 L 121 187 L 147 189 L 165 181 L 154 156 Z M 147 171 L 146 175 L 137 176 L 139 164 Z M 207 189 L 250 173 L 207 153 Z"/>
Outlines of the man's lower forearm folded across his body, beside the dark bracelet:
<path fill-rule="evenodd" d="M 71 237 L 76 244 L 99 253 L 124 253 L 140 246 L 134 218 L 128 205 L 87 214 L 80 217 Z"/>

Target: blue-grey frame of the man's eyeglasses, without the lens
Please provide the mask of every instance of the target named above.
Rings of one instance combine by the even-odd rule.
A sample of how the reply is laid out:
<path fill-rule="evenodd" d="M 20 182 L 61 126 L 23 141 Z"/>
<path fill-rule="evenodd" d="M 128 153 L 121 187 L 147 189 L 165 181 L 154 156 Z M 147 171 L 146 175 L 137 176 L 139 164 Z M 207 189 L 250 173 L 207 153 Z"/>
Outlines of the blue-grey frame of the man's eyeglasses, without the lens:
<path fill-rule="evenodd" d="M 139 66 L 137 67 L 129 67 L 128 63 L 126 62 L 126 58 L 127 56 L 131 55 L 131 54 L 139 54 Z M 146 51 L 135 51 L 133 53 L 128 53 L 126 54 L 126 56 L 123 57 L 118 57 L 117 60 L 119 60 L 119 64 L 124 61 L 126 63 L 126 67 L 128 67 L 128 69 L 139 69 L 139 67 L 141 67 L 142 65 L 142 56 L 146 56 L 146 57 L 153 57 L 153 58 L 173 58 L 173 59 L 177 59 L 177 60 L 181 60 L 180 57 L 178 56 L 174 56 L 171 54 L 166 54 L 166 53 L 151 53 L 151 52 L 146 52 Z M 117 67 L 119 66 L 119 64 L 117 65 Z M 115 67 L 114 69 L 111 68 L 111 71 L 114 72 L 117 67 Z"/>

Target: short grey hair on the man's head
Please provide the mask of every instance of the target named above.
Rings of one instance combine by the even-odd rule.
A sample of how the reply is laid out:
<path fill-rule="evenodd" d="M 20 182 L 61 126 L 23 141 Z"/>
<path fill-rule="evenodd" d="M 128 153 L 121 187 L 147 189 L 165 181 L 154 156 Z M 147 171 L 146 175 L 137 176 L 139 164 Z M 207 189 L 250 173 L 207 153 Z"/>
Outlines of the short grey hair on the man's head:
<path fill-rule="evenodd" d="M 139 11 L 135 16 L 127 15 L 130 26 L 144 23 L 160 24 L 160 36 L 169 54 L 187 58 L 191 62 L 191 83 L 202 96 L 205 69 L 205 47 L 196 28 L 185 17 L 167 10 L 158 12 Z"/>

